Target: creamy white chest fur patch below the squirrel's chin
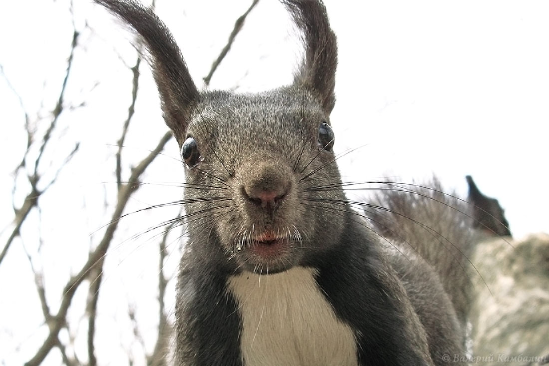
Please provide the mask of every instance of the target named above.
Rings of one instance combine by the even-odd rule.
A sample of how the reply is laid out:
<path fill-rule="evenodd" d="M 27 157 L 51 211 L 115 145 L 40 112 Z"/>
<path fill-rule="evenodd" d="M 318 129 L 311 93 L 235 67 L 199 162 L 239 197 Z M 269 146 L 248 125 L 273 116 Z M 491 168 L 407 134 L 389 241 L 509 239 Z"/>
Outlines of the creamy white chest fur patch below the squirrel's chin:
<path fill-rule="evenodd" d="M 336 318 L 316 284 L 315 270 L 231 276 L 228 289 L 242 317 L 245 366 L 356 366 L 351 328 Z"/>

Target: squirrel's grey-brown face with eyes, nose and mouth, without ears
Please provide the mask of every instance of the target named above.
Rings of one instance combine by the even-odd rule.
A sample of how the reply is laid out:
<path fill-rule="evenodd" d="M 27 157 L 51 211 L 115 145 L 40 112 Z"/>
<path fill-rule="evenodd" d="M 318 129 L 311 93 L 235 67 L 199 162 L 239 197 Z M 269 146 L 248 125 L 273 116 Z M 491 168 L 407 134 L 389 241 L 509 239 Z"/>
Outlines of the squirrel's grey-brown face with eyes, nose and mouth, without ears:
<path fill-rule="evenodd" d="M 329 200 L 345 197 L 335 189 L 340 178 L 333 132 L 306 90 L 205 94 L 178 140 L 183 160 L 192 159 L 187 183 L 210 187 L 186 188 L 187 214 L 211 212 L 210 235 L 217 236 L 228 262 L 275 273 L 337 241 L 343 218 Z M 334 190 L 315 190 L 326 185 Z"/>

